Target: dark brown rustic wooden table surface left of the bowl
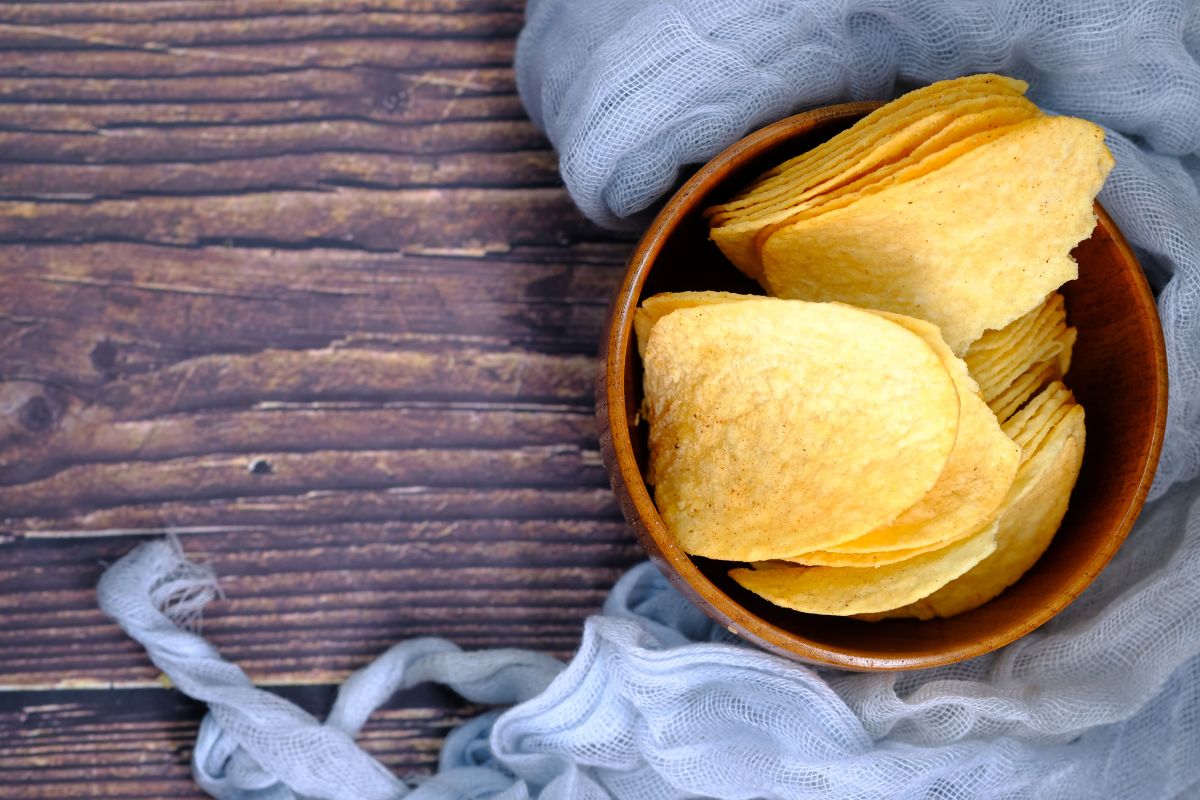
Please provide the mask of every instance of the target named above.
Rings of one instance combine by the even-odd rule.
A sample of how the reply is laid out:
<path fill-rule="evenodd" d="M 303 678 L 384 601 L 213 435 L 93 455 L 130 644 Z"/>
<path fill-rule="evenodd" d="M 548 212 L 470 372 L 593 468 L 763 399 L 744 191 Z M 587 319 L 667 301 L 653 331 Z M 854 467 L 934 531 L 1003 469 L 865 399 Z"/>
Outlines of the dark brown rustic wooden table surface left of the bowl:
<path fill-rule="evenodd" d="M 630 249 L 571 205 L 516 0 L 0 5 L 0 798 L 203 796 L 203 709 L 96 608 L 178 534 L 204 632 L 324 715 L 390 644 L 569 657 L 641 558 L 595 350 Z M 364 745 L 428 771 L 467 706 Z"/>

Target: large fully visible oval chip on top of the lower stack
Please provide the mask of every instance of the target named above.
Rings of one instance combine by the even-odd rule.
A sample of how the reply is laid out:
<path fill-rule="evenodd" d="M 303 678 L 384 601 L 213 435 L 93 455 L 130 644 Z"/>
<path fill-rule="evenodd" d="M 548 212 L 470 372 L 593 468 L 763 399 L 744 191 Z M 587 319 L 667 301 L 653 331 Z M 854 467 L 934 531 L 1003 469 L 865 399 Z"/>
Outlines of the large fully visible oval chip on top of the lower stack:
<path fill-rule="evenodd" d="M 920 337 L 836 303 L 673 311 L 646 347 L 648 480 L 688 553 L 763 560 L 894 519 L 937 481 L 954 380 Z"/>

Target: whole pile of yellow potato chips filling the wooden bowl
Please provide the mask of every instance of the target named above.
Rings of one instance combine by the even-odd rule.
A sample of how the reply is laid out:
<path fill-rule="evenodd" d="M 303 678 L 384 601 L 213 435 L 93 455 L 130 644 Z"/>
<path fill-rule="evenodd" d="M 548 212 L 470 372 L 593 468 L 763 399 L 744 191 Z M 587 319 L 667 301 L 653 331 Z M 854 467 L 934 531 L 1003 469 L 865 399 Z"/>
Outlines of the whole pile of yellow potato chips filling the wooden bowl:
<path fill-rule="evenodd" d="M 1049 545 L 1085 437 L 1056 289 L 1112 161 L 1024 89 L 914 91 L 708 210 L 775 297 L 635 317 L 648 481 L 685 552 L 749 561 L 731 576 L 780 606 L 874 619 L 973 608 Z"/>

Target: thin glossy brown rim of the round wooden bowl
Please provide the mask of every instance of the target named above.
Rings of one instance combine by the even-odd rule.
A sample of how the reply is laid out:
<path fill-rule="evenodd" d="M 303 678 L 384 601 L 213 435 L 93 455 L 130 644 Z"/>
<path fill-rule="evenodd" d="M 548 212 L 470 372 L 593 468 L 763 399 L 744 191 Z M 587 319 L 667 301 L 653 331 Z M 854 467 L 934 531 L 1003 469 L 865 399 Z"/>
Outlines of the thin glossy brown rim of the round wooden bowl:
<path fill-rule="evenodd" d="M 655 215 L 626 263 L 624 277 L 610 306 L 608 324 L 602 339 L 606 355 L 601 363 L 600 381 L 596 386 L 596 410 L 598 416 L 601 417 L 599 422 L 602 438 L 605 435 L 607 438 L 607 441 L 602 443 L 606 445 L 602 450 L 605 451 L 606 467 L 613 487 L 619 493 L 617 481 L 619 480 L 624 485 L 623 488 L 628 492 L 629 500 L 628 504 L 622 504 L 625 516 L 636 517 L 630 518 L 629 522 L 643 548 L 650 559 L 655 561 L 664 576 L 703 613 L 725 626 L 731 633 L 790 658 L 862 672 L 938 667 L 991 652 L 1042 626 L 1082 594 L 1096 576 L 1099 575 L 1100 570 L 1116 554 L 1141 513 L 1162 452 L 1168 390 L 1165 341 L 1162 320 L 1158 318 L 1158 309 L 1150 283 L 1121 230 L 1097 201 L 1094 204 L 1097 227 L 1103 228 L 1112 239 L 1114 245 L 1124 260 L 1139 266 L 1138 270 L 1134 270 L 1135 273 L 1133 276 L 1138 288 L 1135 302 L 1154 321 L 1151 325 L 1151 337 L 1154 348 L 1153 356 L 1159 365 L 1159 368 L 1154 371 L 1156 386 L 1153 396 L 1156 409 L 1150 447 L 1136 479 L 1136 488 L 1121 522 L 1114 529 L 1112 535 L 1105 539 L 1105 546 L 1094 551 L 1087 563 L 1075 572 L 1073 579 L 1063 587 L 1063 590 L 1055 595 L 1054 602 L 1045 603 L 1036 613 L 1013 620 L 988 634 L 980 636 L 973 642 L 964 643 L 959 646 L 920 656 L 880 657 L 845 652 L 838 648 L 829 648 L 792 633 L 748 612 L 726 593 L 715 587 L 713 587 L 713 596 L 702 596 L 696 589 L 696 582 L 712 584 L 691 560 L 691 557 L 676 545 L 666 525 L 662 523 L 641 470 L 637 467 L 632 440 L 629 435 L 628 420 L 625 417 L 625 363 L 629 359 L 630 347 L 632 345 L 632 318 L 638 305 L 637 301 L 641 299 L 642 288 L 649 275 L 652 264 L 656 260 L 677 224 L 704 200 L 708 190 L 712 188 L 709 185 L 714 179 L 720 179 L 732 167 L 738 166 L 744 157 L 782 144 L 797 133 L 812 130 L 822 124 L 864 116 L 882 104 L 882 102 L 875 101 L 838 103 L 784 118 L 733 143 L 688 179 Z M 798 126 L 808 127 L 804 131 L 797 131 Z M 643 510 L 646 509 L 653 510 L 653 513 L 644 513 Z"/>

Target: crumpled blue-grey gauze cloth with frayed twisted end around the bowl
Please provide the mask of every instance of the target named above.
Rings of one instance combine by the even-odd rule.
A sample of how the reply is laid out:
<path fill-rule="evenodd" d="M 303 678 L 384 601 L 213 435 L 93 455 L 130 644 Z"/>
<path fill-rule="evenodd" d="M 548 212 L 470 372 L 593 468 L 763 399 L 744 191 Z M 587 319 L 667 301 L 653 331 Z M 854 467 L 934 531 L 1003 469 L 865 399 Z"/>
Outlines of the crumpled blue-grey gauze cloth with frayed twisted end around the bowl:
<path fill-rule="evenodd" d="M 1102 201 L 1138 248 L 1166 333 L 1158 479 L 1112 564 L 1003 650 L 850 674 L 732 642 L 649 565 L 614 587 L 570 664 L 396 645 L 324 723 L 253 687 L 188 621 L 215 577 L 168 541 L 101 581 L 104 610 L 209 704 L 193 771 L 226 800 L 344 798 L 1200 796 L 1200 5 L 1043 0 L 533 0 L 522 97 L 580 207 L 636 227 L 680 168 L 805 106 L 971 72 L 1030 80 L 1106 126 Z M 354 742 L 425 680 L 502 706 L 410 786 Z"/>

